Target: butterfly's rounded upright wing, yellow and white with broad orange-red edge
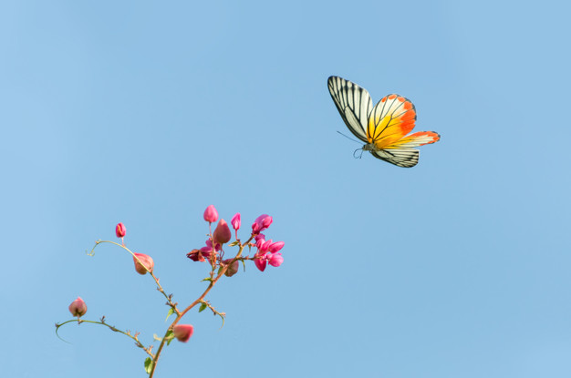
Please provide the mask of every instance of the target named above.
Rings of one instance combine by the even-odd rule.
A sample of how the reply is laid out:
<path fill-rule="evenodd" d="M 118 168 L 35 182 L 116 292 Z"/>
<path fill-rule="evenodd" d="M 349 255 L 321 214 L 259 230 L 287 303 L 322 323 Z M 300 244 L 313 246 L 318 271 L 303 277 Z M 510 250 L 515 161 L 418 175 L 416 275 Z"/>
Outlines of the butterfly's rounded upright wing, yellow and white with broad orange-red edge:
<path fill-rule="evenodd" d="M 410 99 L 396 94 L 381 98 L 369 117 L 367 141 L 386 148 L 409 134 L 416 122 L 416 109 Z"/>

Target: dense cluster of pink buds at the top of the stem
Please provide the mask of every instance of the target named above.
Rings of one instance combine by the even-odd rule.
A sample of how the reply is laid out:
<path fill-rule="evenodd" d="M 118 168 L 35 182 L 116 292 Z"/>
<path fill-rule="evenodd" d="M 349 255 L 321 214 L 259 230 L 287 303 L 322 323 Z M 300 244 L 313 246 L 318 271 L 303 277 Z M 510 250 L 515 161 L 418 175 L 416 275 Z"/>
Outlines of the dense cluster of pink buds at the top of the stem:
<path fill-rule="evenodd" d="M 209 224 L 212 224 L 218 220 L 218 211 L 213 205 L 210 205 L 204 210 L 204 220 Z M 238 272 L 239 261 L 252 260 L 257 269 L 260 271 L 265 271 L 267 264 L 274 267 L 278 267 L 284 262 L 282 254 L 279 252 L 284 248 L 284 241 L 273 241 L 265 240 L 265 235 L 262 231 L 267 230 L 272 224 L 272 217 L 267 214 L 262 214 L 254 220 L 252 224 L 252 232 L 250 233 L 249 239 L 241 243 L 238 239 L 238 230 L 242 225 L 242 217 L 240 213 L 236 213 L 230 224 L 234 229 L 235 241 L 230 244 L 230 246 L 239 245 L 241 250 L 245 247 L 254 247 L 256 252 L 254 257 L 249 256 L 236 256 L 234 259 L 223 260 L 223 244 L 227 243 L 232 239 L 232 232 L 228 223 L 221 219 L 218 225 L 214 229 L 212 235 L 209 234 L 208 240 L 206 240 L 205 245 L 196 250 L 191 250 L 187 253 L 187 257 L 192 261 L 209 261 L 213 266 L 218 264 L 221 267 L 228 265 L 225 273 L 227 276 L 233 276 Z"/>

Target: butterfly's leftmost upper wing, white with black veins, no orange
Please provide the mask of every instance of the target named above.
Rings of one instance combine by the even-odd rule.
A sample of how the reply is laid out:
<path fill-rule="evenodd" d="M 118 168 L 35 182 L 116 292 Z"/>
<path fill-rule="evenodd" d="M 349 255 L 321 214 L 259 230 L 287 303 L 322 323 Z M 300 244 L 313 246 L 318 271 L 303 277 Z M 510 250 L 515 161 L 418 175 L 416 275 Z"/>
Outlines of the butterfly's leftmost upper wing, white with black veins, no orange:
<path fill-rule="evenodd" d="M 367 89 L 342 77 L 329 77 L 327 87 L 348 129 L 355 137 L 367 142 L 367 123 L 373 109 Z"/>

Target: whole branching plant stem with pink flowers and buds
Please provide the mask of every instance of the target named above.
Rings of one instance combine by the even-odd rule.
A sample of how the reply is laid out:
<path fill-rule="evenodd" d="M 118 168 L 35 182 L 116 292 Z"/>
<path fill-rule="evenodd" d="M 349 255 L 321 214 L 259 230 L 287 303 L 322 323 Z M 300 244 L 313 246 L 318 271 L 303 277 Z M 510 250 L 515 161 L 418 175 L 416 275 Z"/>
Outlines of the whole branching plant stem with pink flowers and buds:
<path fill-rule="evenodd" d="M 176 339 L 179 342 L 188 342 L 191 339 L 192 333 L 194 332 L 194 327 L 192 324 L 180 324 L 179 322 L 187 312 L 192 310 L 192 308 L 199 306 L 198 312 L 209 309 L 213 312 L 214 315 L 220 316 L 224 321 L 225 312 L 219 311 L 213 306 L 211 301 L 206 301 L 204 299 L 206 294 L 211 291 L 216 282 L 223 279 L 224 276 L 234 276 L 234 274 L 236 274 L 240 269 L 240 262 L 245 265 L 245 261 L 254 261 L 254 266 L 260 271 L 265 271 L 265 268 L 268 264 L 274 267 L 278 267 L 284 262 L 284 258 L 280 252 L 280 250 L 284 248 L 284 241 L 274 241 L 271 239 L 266 240 L 265 234 L 262 233 L 263 231 L 267 230 L 273 222 L 272 217 L 269 215 L 262 214 L 254 220 L 254 223 L 252 223 L 252 231 L 249 232 L 249 235 L 245 241 L 242 241 L 238 238 L 238 230 L 240 230 L 242 226 L 242 217 L 240 213 L 236 213 L 230 220 L 230 223 L 228 223 L 223 219 L 219 220 L 218 211 L 214 208 L 213 205 L 210 205 L 204 210 L 203 218 L 208 222 L 208 239 L 205 240 L 205 245 L 202 248 L 192 250 L 187 253 L 187 257 L 192 261 L 202 261 L 209 263 L 209 277 L 202 280 L 208 281 L 209 283 L 208 287 L 205 288 L 205 290 L 202 292 L 202 295 L 184 308 L 180 307 L 178 302 L 172 300 L 172 294 L 167 294 L 166 291 L 162 288 L 161 283 L 159 282 L 159 278 L 155 275 L 154 261 L 152 260 L 151 256 L 144 253 L 131 251 L 125 246 L 125 236 L 127 235 L 127 229 L 123 223 L 119 223 L 115 227 L 115 235 L 121 240 L 120 244 L 119 242 L 110 240 L 98 240 L 96 241 L 95 246 L 91 252 L 88 253 L 90 256 L 93 256 L 95 248 L 102 243 L 115 244 L 116 246 L 119 246 L 123 250 L 126 250 L 130 253 L 130 256 L 132 257 L 135 264 L 135 271 L 137 273 L 141 275 L 147 275 L 147 273 L 149 273 L 147 276 L 151 276 L 151 278 L 155 281 L 157 285 L 157 291 L 161 292 L 161 294 L 166 298 L 167 301 L 165 304 L 170 307 L 167 319 L 169 319 L 169 316 L 171 315 L 176 317 L 171 322 L 171 325 L 168 326 L 162 338 L 159 338 L 158 336 L 154 337 L 154 340 L 161 342 L 157 349 L 153 349 L 153 345 L 146 346 L 140 342 L 139 332 L 130 332 L 129 330 L 121 331 L 114 325 L 110 325 L 105 321 L 105 316 L 101 317 L 99 322 L 81 319 L 81 317 L 85 315 L 86 312 L 88 312 L 88 306 L 86 302 L 83 301 L 80 297 L 78 297 L 77 300 L 72 301 L 68 306 L 69 312 L 74 317 L 77 317 L 77 320 L 72 319 L 67 322 L 56 324 L 56 333 L 57 330 L 59 330 L 59 327 L 69 322 L 86 322 L 91 324 L 98 324 L 100 326 L 109 328 L 109 330 L 113 332 L 119 332 L 129 337 L 132 341 L 135 342 L 135 345 L 147 353 L 148 357 L 145 359 L 144 367 L 145 371 L 149 374 L 149 377 L 152 378 L 157 362 L 159 361 L 161 351 L 163 350 L 163 346 L 165 346 L 165 344 L 169 345 L 173 339 Z M 213 230 L 213 223 L 215 222 L 218 223 Z M 234 241 L 231 241 L 233 238 L 233 231 L 230 229 L 230 227 L 234 229 Z M 234 257 L 224 257 L 224 245 L 226 249 L 227 247 L 238 247 L 238 251 L 235 253 L 235 255 L 233 254 Z M 247 250 L 254 249 L 254 255 L 244 256 L 243 252 L 246 250 L 246 248 Z M 157 352 L 154 352 L 155 350 Z"/>

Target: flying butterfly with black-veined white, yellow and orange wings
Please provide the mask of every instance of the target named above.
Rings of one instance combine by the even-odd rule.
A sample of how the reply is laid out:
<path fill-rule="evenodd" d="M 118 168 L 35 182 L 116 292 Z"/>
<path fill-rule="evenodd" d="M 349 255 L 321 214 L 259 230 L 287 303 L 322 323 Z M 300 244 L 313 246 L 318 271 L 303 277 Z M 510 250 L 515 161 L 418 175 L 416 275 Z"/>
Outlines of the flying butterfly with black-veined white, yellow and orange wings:
<path fill-rule="evenodd" d="M 416 110 L 410 99 L 400 95 L 382 97 L 373 107 L 367 89 L 341 77 L 327 79 L 329 93 L 339 114 L 353 135 L 363 142 L 364 151 L 399 167 L 414 167 L 419 162 L 419 147 L 440 140 L 434 131 L 410 134 Z"/>

